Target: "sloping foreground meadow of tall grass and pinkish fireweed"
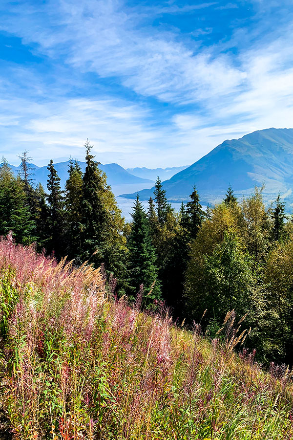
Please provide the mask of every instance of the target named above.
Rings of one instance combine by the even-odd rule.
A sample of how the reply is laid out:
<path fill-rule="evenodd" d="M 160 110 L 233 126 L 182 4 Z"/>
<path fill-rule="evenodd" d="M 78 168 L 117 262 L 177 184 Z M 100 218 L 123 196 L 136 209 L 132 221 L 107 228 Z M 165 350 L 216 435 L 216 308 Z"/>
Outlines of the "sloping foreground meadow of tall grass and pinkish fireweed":
<path fill-rule="evenodd" d="M 227 315 L 222 339 L 140 301 L 100 270 L 0 241 L 0 438 L 269 440 L 293 436 L 291 371 L 265 373 Z M 236 329 L 236 330 L 235 330 Z"/>

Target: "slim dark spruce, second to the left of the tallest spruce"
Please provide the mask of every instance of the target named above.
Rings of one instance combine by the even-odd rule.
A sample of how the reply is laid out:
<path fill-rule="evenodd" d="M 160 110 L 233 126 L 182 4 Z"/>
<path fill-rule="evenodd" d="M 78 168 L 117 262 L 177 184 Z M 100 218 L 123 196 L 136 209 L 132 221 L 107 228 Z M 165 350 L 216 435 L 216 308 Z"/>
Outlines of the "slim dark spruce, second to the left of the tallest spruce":
<path fill-rule="evenodd" d="M 49 171 L 47 180 L 49 204 L 49 231 L 48 252 L 55 252 L 57 257 L 62 257 L 64 252 L 63 228 L 64 228 L 64 199 L 60 186 L 60 177 L 53 165 L 53 160 L 47 167 Z"/>

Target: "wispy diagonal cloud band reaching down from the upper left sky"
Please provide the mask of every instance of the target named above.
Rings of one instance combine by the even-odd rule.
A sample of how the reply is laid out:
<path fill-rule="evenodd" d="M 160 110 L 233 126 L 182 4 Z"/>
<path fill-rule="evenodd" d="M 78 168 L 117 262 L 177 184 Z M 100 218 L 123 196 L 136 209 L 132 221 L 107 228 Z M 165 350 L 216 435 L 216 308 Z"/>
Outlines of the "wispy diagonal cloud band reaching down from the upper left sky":
<path fill-rule="evenodd" d="M 139 27 L 144 11 L 142 17 L 125 12 L 118 1 L 51 1 L 45 11 L 42 30 L 35 9 L 23 10 L 18 26 L 8 22 L 2 28 L 19 29 L 24 41 L 38 43 L 41 52 L 52 57 L 63 53 L 74 68 L 119 77 L 123 85 L 144 96 L 197 102 L 230 93 L 243 79 L 243 72 L 227 55 L 213 59 L 196 43 L 188 48 L 176 34 Z"/>

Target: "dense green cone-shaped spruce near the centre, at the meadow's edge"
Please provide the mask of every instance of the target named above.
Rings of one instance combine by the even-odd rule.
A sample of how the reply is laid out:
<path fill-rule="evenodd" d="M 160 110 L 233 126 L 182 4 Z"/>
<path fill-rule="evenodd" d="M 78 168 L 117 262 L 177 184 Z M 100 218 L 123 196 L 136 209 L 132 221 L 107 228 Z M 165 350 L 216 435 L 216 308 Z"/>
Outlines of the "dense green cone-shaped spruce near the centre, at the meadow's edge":
<path fill-rule="evenodd" d="M 131 293 L 135 295 L 143 285 L 144 303 L 147 306 L 153 299 L 160 298 L 161 288 L 158 282 L 156 255 L 151 244 L 146 213 L 138 195 L 131 216 L 132 227 L 128 237 Z"/>

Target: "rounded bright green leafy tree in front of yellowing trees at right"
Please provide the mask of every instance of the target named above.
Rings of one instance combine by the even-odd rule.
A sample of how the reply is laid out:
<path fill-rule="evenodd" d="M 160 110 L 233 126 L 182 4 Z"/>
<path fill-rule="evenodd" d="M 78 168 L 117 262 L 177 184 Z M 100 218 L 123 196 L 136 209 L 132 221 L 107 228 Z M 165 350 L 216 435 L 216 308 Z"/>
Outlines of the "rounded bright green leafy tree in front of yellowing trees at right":
<path fill-rule="evenodd" d="M 228 310 L 237 310 L 240 317 L 248 313 L 254 284 L 251 267 L 251 258 L 236 237 L 225 233 L 223 242 L 215 246 L 211 255 L 204 256 L 201 265 L 189 268 L 188 315 L 191 313 L 198 322 L 207 308 L 206 318 L 222 322 Z"/>

